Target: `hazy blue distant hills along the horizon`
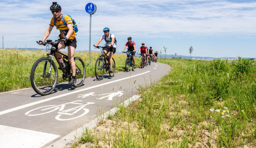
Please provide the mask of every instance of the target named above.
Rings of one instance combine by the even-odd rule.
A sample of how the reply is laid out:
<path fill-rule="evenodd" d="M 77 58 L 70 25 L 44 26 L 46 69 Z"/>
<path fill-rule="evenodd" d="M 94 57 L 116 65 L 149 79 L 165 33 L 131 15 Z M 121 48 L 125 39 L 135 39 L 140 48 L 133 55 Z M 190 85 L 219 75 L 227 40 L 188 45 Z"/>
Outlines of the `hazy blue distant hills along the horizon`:
<path fill-rule="evenodd" d="M 25 50 L 25 48 L 17 48 L 17 49 L 23 49 Z M 45 48 L 26 48 L 26 50 L 45 50 Z M 76 50 L 76 51 L 81 51 L 82 50 Z M 89 50 L 85 50 L 85 51 L 89 51 Z M 93 52 L 100 52 L 99 50 L 91 50 Z M 137 52 L 136 52 L 137 53 Z M 122 52 L 116 51 L 115 54 L 124 54 Z M 138 54 L 136 54 L 136 57 L 139 57 Z M 159 54 L 159 57 L 161 58 L 165 58 L 165 54 Z M 166 55 L 166 58 L 174 58 L 175 55 Z M 190 59 L 190 56 L 183 56 L 183 55 L 176 55 L 176 58 L 181 58 L 181 59 Z M 191 56 L 191 59 L 237 59 L 237 57 L 219 57 L 219 58 L 214 58 L 214 57 L 197 57 L 197 56 Z M 246 58 L 246 59 L 255 59 L 255 58 Z"/>

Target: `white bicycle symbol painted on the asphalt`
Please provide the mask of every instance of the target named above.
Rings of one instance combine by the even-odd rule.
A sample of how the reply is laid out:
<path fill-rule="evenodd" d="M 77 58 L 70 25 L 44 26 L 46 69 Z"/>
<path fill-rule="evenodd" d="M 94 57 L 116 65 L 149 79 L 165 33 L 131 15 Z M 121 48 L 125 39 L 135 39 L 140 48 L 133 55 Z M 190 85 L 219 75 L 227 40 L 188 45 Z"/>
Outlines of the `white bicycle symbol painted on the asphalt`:
<path fill-rule="evenodd" d="M 65 120 L 72 120 L 75 118 L 79 118 L 84 116 L 89 112 L 89 109 L 84 108 L 86 105 L 94 104 L 93 102 L 87 102 L 86 104 L 83 103 L 77 103 L 82 102 L 81 100 L 61 104 L 61 105 L 47 105 L 38 107 L 32 110 L 29 110 L 25 115 L 27 116 L 39 116 L 47 113 L 54 112 L 55 110 L 58 110 L 58 115 L 55 117 L 56 120 L 65 121 Z M 72 107 L 69 109 L 64 110 L 65 106 L 67 104 L 78 104 L 80 106 Z M 74 112 L 73 112 L 74 111 Z M 72 113 L 71 113 L 72 112 Z"/>

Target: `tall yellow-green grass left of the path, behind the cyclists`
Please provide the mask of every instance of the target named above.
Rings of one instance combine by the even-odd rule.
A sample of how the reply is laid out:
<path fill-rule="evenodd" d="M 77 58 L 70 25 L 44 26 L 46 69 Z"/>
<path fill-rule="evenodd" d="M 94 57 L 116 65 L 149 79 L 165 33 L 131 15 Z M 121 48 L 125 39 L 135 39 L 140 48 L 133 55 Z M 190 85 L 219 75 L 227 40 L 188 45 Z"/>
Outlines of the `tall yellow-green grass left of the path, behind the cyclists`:
<path fill-rule="evenodd" d="M 30 71 L 32 65 L 37 59 L 46 57 L 46 54 L 46 51 L 42 50 L 0 49 L 0 92 L 31 87 Z M 86 77 L 88 77 L 95 75 L 95 62 L 100 55 L 101 53 L 91 52 L 90 67 L 89 52 L 75 52 L 74 57 L 80 57 L 84 60 Z M 113 58 L 116 63 L 116 72 L 124 71 L 126 55 L 114 54 Z M 55 63 L 57 64 L 56 61 Z M 139 65 L 139 63 L 139 58 L 136 58 L 136 64 Z M 62 79 L 61 70 L 58 71 L 58 77 L 58 83 L 67 81 Z"/>

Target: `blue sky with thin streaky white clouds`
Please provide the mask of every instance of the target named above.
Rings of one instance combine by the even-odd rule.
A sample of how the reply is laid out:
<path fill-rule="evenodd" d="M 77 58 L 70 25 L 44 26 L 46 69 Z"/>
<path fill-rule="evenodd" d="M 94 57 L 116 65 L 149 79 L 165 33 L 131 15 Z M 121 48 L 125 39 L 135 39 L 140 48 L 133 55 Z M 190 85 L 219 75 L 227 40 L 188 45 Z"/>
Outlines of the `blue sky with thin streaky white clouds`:
<path fill-rule="evenodd" d="M 136 43 L 137 51 L 144 42 L 154 51 L 199 57 L 256 57 L 255 0 L 61 0 L 62 14 L 76 21 L 76 51 L 89 50 L 89 2 L 97 6 L 91 17 L 91 50 L 109 27 L 116 36 L 116 51 L 122 51 L 127 37 Z M 42 40 L 53 17 L 49 0 L 0 0 L 0 36 L 4 48 L 45 48 Z M 53 28 L 48 39 L 57 40 Z M 104 45 L 104 40 L 99 44 Z M 0 46 L 2 48 L 2 45 Z M 66 49 L 62 49 L 66 51 Z"/>

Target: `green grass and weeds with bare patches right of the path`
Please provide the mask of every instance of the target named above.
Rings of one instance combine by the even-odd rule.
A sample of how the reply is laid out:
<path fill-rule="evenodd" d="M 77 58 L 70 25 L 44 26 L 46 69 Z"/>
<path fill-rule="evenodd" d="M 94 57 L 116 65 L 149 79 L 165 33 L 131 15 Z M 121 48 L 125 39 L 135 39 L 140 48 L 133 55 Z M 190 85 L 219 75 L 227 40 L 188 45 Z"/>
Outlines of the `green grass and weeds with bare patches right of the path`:
<path fill-rule="evenodd" d="M 90 130 L 90 147 L 256 147 L 255 61 L 158 61 L 172 71 Z"/>

